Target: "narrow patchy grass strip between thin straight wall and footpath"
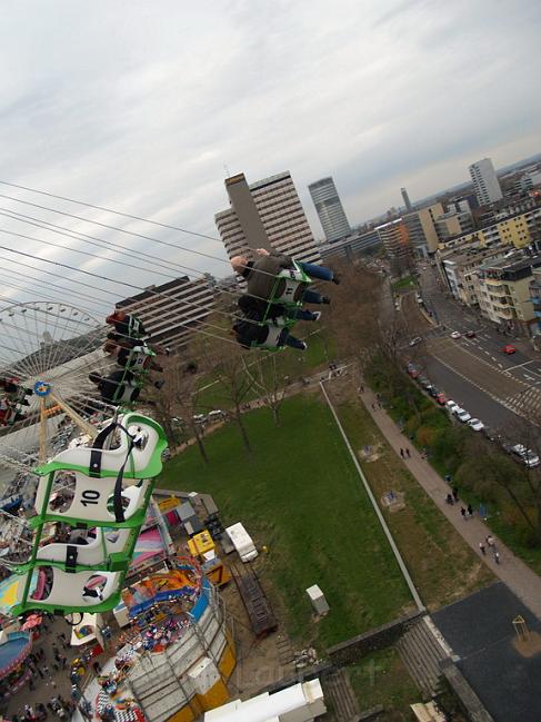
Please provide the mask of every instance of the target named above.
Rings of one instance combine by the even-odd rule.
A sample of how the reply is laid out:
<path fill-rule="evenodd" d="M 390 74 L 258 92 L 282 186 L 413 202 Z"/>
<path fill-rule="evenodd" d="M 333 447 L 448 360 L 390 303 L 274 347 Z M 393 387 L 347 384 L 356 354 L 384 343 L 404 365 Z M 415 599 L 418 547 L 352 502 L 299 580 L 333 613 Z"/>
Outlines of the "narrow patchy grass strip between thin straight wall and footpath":
<path fill-rule="evenodd" d="M 361 465 L 377 498 L 391 488 L 405 494 L 404 510 L 384 514 L 424 604 L 438 609 L 493 581 L 490 570 L 391 449 L 364 406 L 349 400 L 339 404 L 338 411 L 353 448 L 370 444 L 375 452 L 374 461 L 361 461 Z"/>

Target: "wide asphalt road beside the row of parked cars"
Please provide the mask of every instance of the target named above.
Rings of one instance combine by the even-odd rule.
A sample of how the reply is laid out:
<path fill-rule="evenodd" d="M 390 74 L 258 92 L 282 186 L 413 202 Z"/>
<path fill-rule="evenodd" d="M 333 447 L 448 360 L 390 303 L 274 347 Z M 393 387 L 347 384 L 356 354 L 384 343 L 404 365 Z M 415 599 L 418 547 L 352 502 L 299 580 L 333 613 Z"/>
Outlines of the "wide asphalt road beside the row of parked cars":
<path fill-rule="evenodd" d="M 532 426 L 541 425 L 541 355 L 524 348 L 505 355 L 503 345 L 514 342 L 497 332 L 485 319 L 444 296 L 434 271 L 421 273 L 427 308 L 438 325 L 430 324 L 419 309 L 414 295 L 402 299 L 402 314 L 412 336 L 424 343 L 409 350 L 431 382 L 472 416 L 510 441 L 524 442 Z M 475 337 L 452 339 L 452 330 Z"/>

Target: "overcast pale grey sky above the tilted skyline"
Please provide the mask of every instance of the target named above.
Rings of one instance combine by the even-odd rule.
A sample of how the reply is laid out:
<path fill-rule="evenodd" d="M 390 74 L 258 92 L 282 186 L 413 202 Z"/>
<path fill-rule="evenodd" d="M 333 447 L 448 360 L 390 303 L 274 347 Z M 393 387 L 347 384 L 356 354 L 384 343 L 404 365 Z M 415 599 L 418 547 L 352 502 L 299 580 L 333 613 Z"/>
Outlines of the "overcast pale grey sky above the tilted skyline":
<path fill-rule="evenodd" d="M 422 198 L 465 181 L 484 156 L 499 167 L 541 151 L 539 0 L 0 0 L 0 179 L 210 236 L 228 205 L 223 178 L 239 171 L 250 182 L 290 170 L 321 237 L 307 186 L 323 176 L 357 224 L 399 206 L 401 186 Z M 212 240 L 6 186 L 0 194 L 224 258 Z M 0 208 L 229 273 L 220 260 L 1 197 Z M 136 286 L 176 275 L 121 269 L 114 251 L 107 261 L 77 255 L 68 247 L 104 251 L 1 216 L 0 228 L 64 248 L 6 234 L 0 245 Z M 19 260 L 71 284 L 69 270 Z M 2 266 L 3 284 L 8 268 L 31 273 Z M 84 289 L 96 313 L 136 293 L 84 283 L 96 287 Z"/>

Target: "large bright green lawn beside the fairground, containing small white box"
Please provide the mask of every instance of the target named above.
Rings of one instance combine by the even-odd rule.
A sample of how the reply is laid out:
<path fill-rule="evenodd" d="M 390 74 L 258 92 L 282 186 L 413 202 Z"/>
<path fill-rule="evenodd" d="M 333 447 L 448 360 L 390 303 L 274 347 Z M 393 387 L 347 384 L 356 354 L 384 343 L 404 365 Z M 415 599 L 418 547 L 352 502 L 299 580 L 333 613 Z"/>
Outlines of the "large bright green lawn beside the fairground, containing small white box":
<path fill-rule="evenodd" d="M 210 492 L 229 524 L 242 521 L 267 545 L 259 572 L 275 611 L 299 642 L 329 644 L 410 609 L 410 595 L 327 406 L 297 396 L 282 425 L 268 409 L 246 416 L 252 458 L 231 424 L 207 439 L 204 467 L 196 448 L 166 465 L 160 486 Z M 331 611 L 311 619 L 304 590 L 319 584 Z"/>

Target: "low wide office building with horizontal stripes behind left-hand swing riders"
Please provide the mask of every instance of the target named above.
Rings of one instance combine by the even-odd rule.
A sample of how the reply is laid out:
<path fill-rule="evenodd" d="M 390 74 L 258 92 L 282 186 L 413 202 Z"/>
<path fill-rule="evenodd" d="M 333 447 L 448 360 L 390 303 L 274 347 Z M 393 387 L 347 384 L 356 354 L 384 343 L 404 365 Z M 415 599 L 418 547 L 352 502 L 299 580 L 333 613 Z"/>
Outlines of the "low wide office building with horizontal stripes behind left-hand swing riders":
<path fill-rule="evenodd" d="M 190 280 L 181 276 L 161 286 L 149 286 L 117 307 L 136 314 L 153 343 L 174 350 L 191 340 L 193 329 L 210 315 L 213 305 L 212 288 L 206 278 Z"/>

